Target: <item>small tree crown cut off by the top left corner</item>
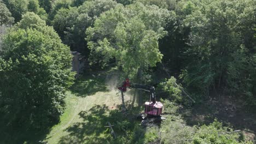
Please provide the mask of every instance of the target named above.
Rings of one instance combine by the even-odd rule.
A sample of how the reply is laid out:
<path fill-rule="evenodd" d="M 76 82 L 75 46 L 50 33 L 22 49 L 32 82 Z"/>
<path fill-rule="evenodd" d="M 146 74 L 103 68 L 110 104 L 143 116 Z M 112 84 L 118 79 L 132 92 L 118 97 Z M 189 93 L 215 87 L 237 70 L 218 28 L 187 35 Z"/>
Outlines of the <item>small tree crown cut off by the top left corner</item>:
<path fill-rule="evenodd" d="M 14 22 L 14 18 L 11 17 L 11 13 L 6 5 L 0 1 L 0 26 L 10 25 Z"/>

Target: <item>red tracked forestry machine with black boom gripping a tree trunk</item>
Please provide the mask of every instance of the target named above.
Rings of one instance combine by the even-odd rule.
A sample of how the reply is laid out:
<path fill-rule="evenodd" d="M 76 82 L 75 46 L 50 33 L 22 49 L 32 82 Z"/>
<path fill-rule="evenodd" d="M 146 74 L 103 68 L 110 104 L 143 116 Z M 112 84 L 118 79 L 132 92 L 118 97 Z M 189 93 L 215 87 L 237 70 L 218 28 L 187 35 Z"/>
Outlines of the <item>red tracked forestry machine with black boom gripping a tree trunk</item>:
<path fill-rule="evenodd" d="M 149 92 L 150 99 L 149 99 L 149 101 L 145 102 L 144 112 L 146 113 L 147 117 L 154 117 L 154 118 L 162 119 L 161 114 L 162 114 L 163 105 L 159 101 L 156 101 L 155 87 L 137 84 L 137 83 L 130 83 L 130 80 L 126 79 L 123 82 L 123 85 L 121 87 L 118 87 L 118 89 L 121 91 L 121 93 L 123 95 L 123 92 L 126 92 L 127 88 L 141 89 L 142 91 Z"/>

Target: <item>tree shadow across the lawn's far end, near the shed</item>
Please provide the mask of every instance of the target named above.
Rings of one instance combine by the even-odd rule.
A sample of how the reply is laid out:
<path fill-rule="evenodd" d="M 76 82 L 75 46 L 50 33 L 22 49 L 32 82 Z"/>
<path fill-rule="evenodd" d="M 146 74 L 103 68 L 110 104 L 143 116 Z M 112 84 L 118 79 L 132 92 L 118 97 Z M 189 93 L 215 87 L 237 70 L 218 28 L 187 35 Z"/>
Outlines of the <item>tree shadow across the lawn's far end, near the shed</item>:
<path fill-rule="evenodd" d="M 103 76 L 83 75 L 75 80 L 74 85 L 70 88 L 72 94 L 78 97 L 86 97 L 96 92 L 107 92 L 108 88 Z"/>

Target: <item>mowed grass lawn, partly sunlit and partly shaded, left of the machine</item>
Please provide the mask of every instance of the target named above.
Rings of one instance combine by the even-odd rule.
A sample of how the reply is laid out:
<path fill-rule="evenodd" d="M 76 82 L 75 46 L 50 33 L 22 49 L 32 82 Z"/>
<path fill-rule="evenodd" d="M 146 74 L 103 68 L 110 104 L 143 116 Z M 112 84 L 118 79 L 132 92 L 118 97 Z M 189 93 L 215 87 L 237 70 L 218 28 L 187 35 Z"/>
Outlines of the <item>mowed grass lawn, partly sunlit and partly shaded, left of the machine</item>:
<path fill-rule="evenodd" d="M 67 92 L 66 110 L 59 124 L 43 140 L 45 143 L 110 143 L 112 136 L 104 127 L 109 112 L 118 109 L 121 95 L 116 75 L 85 75 Z M 125 100 L 131 100 L 125 95 Z"/>

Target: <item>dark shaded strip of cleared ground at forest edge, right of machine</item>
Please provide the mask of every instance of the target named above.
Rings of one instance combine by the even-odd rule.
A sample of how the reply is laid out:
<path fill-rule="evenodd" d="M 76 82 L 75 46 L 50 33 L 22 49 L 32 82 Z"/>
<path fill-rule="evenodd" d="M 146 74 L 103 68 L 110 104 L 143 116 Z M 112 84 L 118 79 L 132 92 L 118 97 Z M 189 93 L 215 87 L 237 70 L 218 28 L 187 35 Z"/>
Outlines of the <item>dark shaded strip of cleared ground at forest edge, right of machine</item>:
<path fill-rule="evenodd" d="M 248 130 L 254 134 L 256 132 L 255 113 L 246 113 L 243 108 L 235 109 L 232 105 L 223 105 L 220 101 L 215 103 L 207 101 L 180 112 L 185 122 L 190 126 L 208 125 L 214 121 L 214 118 L 217 118 L 225 126 L 232 127 L 235 130 Z"/>

